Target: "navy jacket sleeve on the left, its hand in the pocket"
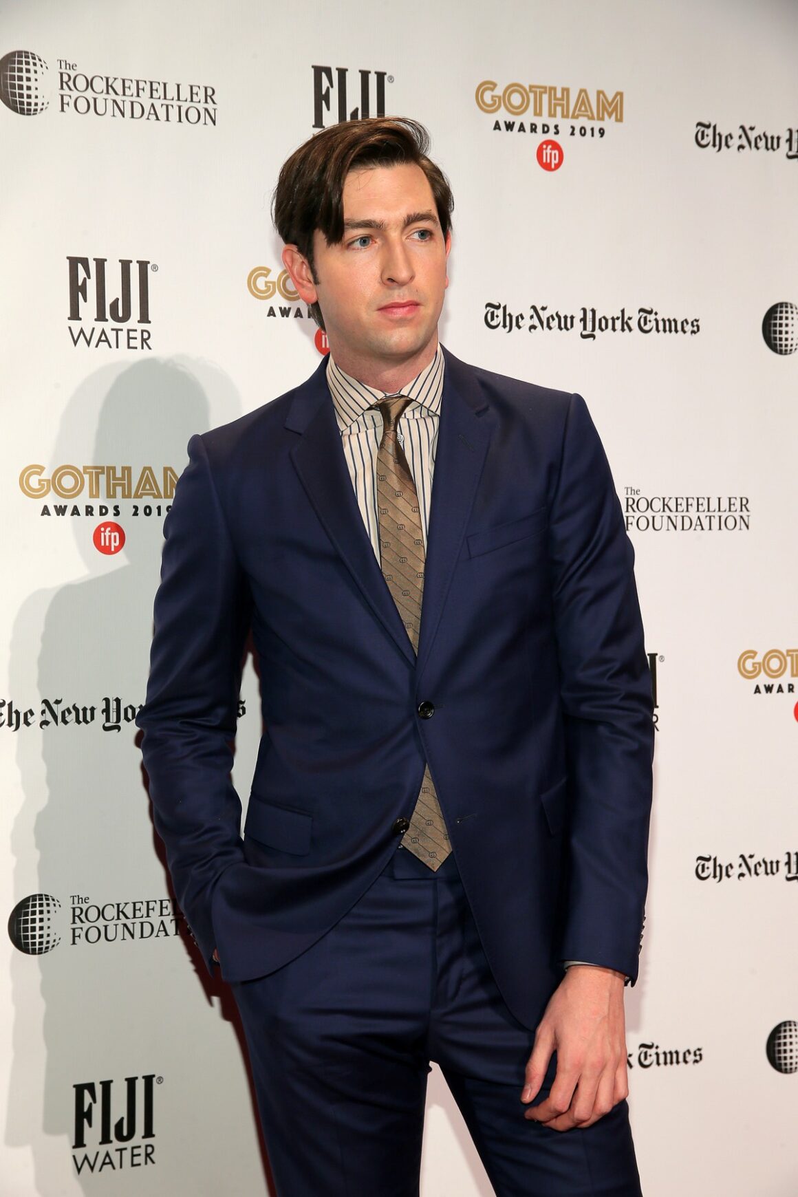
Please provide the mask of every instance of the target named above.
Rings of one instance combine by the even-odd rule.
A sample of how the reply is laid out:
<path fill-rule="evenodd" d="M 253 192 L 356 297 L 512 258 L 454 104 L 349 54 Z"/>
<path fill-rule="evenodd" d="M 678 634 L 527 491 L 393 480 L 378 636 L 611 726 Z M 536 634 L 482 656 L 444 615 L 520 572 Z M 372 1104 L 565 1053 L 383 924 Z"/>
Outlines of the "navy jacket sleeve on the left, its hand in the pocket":
<path fill-rule="evenodd" d="M 136 722 L 177 900 L 209 964 L 213 887 L 244 859 L 230 771 L 250 600 L 200 437 L 189 443 L 164 535 L 147 699 Z"/>

